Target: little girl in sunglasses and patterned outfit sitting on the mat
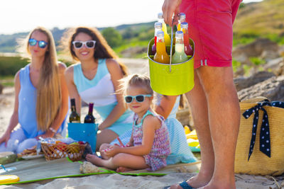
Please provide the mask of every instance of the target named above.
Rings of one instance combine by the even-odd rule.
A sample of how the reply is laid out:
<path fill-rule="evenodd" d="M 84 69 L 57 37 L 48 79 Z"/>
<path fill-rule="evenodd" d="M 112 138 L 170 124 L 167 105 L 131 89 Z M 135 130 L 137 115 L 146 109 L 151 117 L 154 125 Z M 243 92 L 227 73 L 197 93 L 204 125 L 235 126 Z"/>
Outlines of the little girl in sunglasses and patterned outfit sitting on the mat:
<path fill-rule="evenodd" d="M 102 159 L 93 154 L 87 154 L 86 159 L 94 165 L 114 170 L 120 166 L 150 171 L 163 168 L 170 154 L 170 140 L 163 117 L 151 110 L 153 90 L 150 79 L 136 74 L 123 82 L 125 101 L 135 113 L 131 139 L 126 147 L 102 144 Z"/>

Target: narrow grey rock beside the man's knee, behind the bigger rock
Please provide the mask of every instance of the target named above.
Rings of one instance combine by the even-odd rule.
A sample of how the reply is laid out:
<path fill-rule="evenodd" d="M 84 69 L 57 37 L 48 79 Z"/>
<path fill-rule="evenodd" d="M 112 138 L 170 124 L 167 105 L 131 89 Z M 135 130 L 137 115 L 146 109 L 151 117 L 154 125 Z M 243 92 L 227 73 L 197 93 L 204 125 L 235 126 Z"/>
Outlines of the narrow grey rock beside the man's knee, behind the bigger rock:
<path fill-rule="evenodd" d="M 258 71 L 256 74 L 253 74 L 249 77 L 238 77 L 234 79 L 234 84 L 236 86 L 236 91 L 241 91 L 241 89 L 248 88 L 255 84 L 258 84 L 266 79 L 275 76 L 275 74 L 268 71 Z"/>

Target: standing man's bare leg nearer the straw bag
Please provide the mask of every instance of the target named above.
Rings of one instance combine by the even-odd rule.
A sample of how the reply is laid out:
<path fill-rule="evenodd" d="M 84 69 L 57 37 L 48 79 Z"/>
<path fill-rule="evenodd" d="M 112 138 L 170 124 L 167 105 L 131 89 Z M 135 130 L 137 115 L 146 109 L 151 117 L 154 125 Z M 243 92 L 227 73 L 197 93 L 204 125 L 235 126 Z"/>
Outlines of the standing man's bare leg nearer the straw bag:
<path fill-rule="evenodd" d="M 204 188 L 236 188 L 234 156 L 240 109 L 233 70 L 231 67 L 200 67 L 198 75 L 208 102 L 215 162 L 212 180 Z"/>

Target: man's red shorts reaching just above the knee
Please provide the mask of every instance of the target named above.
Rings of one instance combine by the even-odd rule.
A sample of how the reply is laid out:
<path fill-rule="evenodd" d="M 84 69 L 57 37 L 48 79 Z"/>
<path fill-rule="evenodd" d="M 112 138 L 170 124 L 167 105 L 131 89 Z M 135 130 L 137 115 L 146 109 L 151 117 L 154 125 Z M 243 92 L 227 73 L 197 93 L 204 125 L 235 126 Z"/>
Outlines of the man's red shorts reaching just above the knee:
<path fill-rule="evenodd" d="M 190 38 L 195 42 L 195 68 L 230 67 L 233 23 L 241 0 L 183 0 Z"/>

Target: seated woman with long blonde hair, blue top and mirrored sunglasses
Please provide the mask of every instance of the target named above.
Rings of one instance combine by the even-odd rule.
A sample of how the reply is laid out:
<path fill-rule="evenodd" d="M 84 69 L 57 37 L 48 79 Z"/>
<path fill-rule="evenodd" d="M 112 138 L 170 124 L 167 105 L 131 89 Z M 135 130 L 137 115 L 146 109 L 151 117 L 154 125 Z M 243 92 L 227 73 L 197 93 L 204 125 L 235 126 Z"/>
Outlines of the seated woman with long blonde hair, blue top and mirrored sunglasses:
<path fill-rule="evenodd" d="M 31 63 L 16 73 L 15 105 L 9 126 L 0 138 L 0 151 L 20 153 L 39 137 L 65 135 L 68 91 L 65 64 L 58 63 L 49 30 L 38 27 L 23 42 Z M 14 130 L 16 125 L 20 125 Z"/>

